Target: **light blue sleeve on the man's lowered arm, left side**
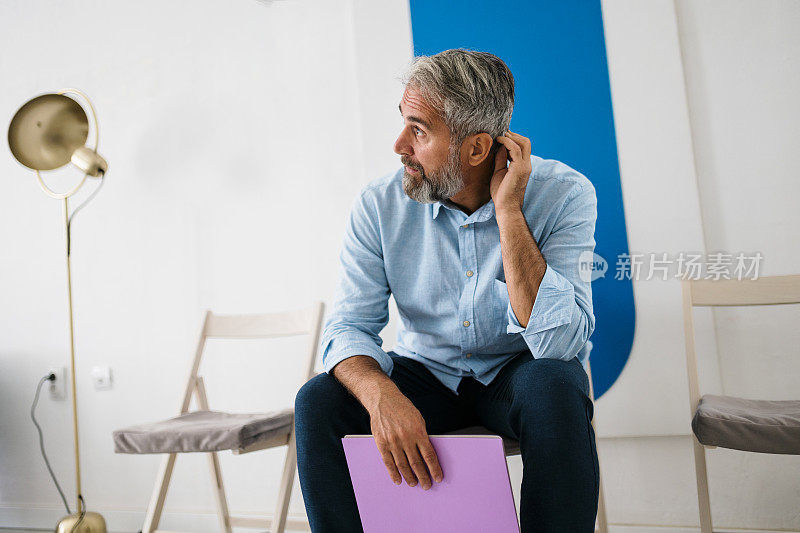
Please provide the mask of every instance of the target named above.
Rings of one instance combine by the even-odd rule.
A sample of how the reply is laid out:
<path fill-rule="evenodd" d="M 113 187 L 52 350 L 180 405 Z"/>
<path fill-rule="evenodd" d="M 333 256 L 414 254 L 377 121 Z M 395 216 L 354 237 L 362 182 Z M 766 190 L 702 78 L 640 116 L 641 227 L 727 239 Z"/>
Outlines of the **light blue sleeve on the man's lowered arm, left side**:
<path fill-rule="evenodd" d="M 389 284 L 383 263 L 378 213 L 369 190 L 350 210 L 339 255 L 334 305 L 320 341 L 322 364 L 330 373 L 354 355 L 375 359 L 390 374 L 392 358 L 381 349 L 381 330 L 389 321 Z"/>

